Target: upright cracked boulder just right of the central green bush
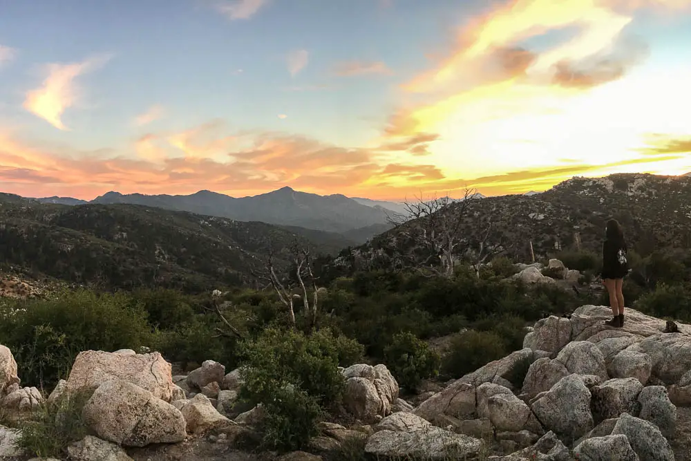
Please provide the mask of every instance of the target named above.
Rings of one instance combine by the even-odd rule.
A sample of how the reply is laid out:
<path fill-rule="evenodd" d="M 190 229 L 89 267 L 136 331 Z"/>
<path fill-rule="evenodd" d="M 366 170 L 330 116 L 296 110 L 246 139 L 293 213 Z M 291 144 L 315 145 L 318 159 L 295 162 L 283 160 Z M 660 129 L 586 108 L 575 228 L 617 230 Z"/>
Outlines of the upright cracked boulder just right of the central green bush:
<path fill-rule="evenodd" d="M 343 405 L 349 413 L 363 421 L 391 414 L 399 386 L 386 366 L 358 364 L 342 373 L 346 379 Z"/>

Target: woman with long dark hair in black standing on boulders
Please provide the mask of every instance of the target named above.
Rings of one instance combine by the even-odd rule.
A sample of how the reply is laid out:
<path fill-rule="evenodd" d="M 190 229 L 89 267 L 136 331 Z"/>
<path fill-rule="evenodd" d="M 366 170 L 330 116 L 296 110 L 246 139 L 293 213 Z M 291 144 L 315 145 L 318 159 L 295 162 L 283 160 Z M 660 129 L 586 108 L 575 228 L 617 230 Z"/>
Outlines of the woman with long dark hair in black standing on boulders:
<path fill-rule="evenodd" d="M 609 305 L 612 306 L 612 320 L 605 323 L 616 328 L 624 326 L 624 294 L 621 288 L 624 276 L 629 272 L 627 250 L 621 225 L 610 219 L 605 228 L 602 279 L 609 293 Z"/>

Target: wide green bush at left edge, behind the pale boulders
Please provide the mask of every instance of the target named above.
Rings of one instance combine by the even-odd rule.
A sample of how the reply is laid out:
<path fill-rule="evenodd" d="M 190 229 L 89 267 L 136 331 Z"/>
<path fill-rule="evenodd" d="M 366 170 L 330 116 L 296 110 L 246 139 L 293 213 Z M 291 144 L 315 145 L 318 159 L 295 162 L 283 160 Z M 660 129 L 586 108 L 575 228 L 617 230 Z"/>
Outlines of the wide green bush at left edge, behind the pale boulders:
<path fill-rule="evenodd" d="M 137 349 L 154 340 L 146 312 L 124 294 L 0 300 L 0 344 L 12 350 L 26 385 L 53 387 L 82 350 Z"/>

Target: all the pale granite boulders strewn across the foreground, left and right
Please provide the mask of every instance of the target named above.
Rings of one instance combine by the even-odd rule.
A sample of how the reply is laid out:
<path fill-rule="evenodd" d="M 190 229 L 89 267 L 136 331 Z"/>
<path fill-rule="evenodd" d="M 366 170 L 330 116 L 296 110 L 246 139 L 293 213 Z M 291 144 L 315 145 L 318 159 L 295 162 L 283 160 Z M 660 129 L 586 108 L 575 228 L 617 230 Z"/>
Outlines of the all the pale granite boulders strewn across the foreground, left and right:
<path fill-rule="evenodd" d="M 352 424 L 322 422 L 314 454 L 285 459 L 317 460 L 358 440 L 379 459 L 674 460 L 678 407 L 691 406 L 691 326 L 666 333 L 665 321 L 627 309 L 624 327 L 610 328 L 609 317 L 609 308 L 585 305 L 570 318 L 542 319 L 522 350 L 447 383 L 417 406 L 399 397 L 386 366 L 341 368 L 343 413 Z M 36 388 L 19 386 L 17 363 L 4 346 L 0 368 L 3 408 L 21 413 L 44 402 Z M 137 453 L 196 439 L 231 447 L 251 433 L 264 410 L 242 408 L 240 386 L 239 370 L 226 373 L 215 361 L 173 376 L 158 352 L 89 350 L 48 400 L 88 397 L 84 420 L 93 435 L 70 446 L 70 459 L 154 459 Z M 18 436 L 0 428 L 0 459 L 21 456 Z"/>

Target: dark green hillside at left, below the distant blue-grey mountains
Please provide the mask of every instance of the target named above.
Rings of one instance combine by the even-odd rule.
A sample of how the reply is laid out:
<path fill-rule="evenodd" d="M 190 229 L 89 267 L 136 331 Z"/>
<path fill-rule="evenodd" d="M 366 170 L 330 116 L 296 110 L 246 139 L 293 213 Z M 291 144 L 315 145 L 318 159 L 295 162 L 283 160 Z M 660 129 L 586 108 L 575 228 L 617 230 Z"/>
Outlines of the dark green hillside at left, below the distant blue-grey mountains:
<path fill-rule="evenodd" d="M 140 205 L 46 205 L 0 196 L 0 262 L 104 288 L 240 285 L 262 267 L 269 240 L 285 267 L 294 242 L 314 254 L 343 238 L 310 229 L 200 216 Z"/>

